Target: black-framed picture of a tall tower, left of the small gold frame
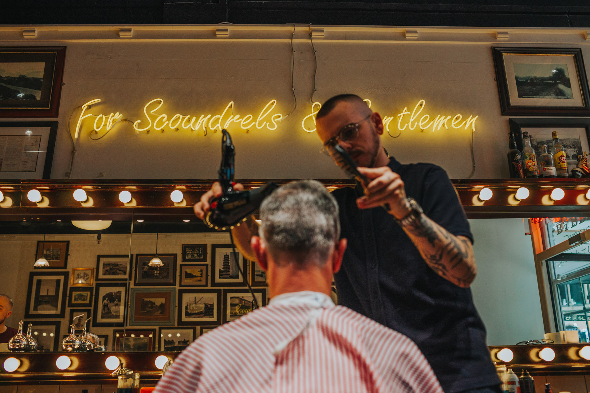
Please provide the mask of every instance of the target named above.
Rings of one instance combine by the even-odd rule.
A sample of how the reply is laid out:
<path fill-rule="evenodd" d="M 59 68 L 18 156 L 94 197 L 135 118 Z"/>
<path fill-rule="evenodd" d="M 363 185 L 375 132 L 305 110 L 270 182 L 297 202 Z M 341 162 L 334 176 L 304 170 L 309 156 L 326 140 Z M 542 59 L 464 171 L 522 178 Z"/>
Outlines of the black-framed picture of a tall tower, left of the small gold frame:
<path fill-rule="evenodd" d="M 64 318 L 68 272 L 30 272 L 25 318 Z"/>

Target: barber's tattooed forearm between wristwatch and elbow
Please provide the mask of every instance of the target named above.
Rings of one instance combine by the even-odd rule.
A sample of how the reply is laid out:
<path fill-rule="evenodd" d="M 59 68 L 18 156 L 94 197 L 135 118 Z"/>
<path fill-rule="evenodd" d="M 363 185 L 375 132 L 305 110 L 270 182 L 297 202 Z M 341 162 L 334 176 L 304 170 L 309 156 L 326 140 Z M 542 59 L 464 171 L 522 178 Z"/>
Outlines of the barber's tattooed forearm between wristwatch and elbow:
<path fill-rule="evenodd" d="M 473 282 L 476 265 L 467 238 L 451 235 L 424 214 L 404 230 L 434 272 L 462 288 Z"/>

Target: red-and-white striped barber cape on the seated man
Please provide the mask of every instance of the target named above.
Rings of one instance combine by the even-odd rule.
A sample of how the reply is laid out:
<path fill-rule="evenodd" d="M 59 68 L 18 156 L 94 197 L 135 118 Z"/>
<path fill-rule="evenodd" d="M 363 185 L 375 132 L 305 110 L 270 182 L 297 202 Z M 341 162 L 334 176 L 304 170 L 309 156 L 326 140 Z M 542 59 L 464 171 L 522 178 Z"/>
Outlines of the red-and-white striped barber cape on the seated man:
<path fill-rule="evenodd" d="M 318 292 L 286 293 L 196 339 L 155 393 L 442 393 L 409 338 Z"/>

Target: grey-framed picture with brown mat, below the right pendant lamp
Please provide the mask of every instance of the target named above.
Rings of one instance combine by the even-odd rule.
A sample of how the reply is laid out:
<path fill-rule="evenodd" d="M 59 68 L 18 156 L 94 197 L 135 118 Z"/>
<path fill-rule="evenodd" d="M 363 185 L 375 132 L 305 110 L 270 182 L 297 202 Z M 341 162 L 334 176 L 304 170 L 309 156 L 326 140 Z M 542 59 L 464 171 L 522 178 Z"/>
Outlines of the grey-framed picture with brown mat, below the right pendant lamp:
<path fill-rule="evenodd" d="M 129 325 L 174 325 L 176 288 L 131 288 Z"/>

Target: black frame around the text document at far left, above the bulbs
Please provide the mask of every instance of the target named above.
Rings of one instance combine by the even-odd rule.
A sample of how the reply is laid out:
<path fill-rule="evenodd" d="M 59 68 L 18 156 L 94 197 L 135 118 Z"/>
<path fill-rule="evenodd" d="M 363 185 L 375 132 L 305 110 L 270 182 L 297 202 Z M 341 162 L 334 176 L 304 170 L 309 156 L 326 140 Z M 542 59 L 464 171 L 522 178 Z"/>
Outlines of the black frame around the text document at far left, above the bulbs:
<path fill-rule="evenodd" d="M 48 131 L 44 131 L 40 135 L 40 149 L 45 149 L 45 151 L 40 151 L 37 156 L 37 158 L 41 158 L 41 160 L 37 161 L 37 166 L 41 167 L 39 169 L 35 168 L 34 172 L 2 172 L 0 173 L 0 178 L 8 179 L 7 174 L 16 174 L 15 176 L 18 179 L 50 179 L 58 124 L 57 121 L 0 121 L 0 136 L 3 134 L 9 134 L 9 136 L 21 135 L 17 131 L 4 131 L 3 133 L 3 129 L 5 128 L 22 128 L 22 135 L 24 136 L 27 136 L 26 133 L 30 131 L 29 128 L 49 128 Z M 31 137 L 34 137 L 34 134 Z M 45 146 L 45 139 L 47 139 L 47 146 Z M 11 178 L 15 176 L 11 176 Z"/>

